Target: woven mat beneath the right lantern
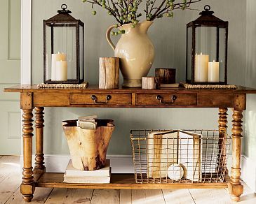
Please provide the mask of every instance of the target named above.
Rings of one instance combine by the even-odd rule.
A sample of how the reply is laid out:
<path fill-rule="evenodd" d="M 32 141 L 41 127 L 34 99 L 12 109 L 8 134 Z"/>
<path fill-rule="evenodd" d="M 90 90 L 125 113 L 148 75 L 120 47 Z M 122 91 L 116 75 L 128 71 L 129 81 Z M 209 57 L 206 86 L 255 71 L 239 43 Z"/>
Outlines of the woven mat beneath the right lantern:
<path fill-rule="evenodd" d="M 180 83 L 180 86 L 185 89 L 237 89 L 236 85 L 190 85 Z"/>

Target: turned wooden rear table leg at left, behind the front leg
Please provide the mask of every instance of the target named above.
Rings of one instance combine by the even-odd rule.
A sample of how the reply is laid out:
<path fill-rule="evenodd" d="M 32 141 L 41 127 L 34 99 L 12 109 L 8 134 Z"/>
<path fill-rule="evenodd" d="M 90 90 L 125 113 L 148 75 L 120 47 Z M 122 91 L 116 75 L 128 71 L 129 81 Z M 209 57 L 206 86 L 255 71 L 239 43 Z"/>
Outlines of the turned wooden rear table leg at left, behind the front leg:
<path fill-rule="evenodd" d="M 44 166 L 44 157 L 43 157 L 43 107 L 36 107 L 35 108 L 35 115 L 36 115 L 36 162 L 34 163 L 34 168 L 36 170 L 43 170 L 45 171 L 46 168 Z"/>

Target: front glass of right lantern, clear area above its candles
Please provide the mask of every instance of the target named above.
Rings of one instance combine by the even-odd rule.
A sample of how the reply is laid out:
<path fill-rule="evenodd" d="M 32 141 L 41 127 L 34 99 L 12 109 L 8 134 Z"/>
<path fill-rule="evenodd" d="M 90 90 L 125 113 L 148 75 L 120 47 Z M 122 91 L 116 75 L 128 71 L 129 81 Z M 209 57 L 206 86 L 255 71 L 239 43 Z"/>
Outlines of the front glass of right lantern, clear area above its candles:
<path fill-rule="evenodd" d="M 196 27 L 196 53 L 208 54 L 209 61 L 217 60 L 217 27 Z"/>

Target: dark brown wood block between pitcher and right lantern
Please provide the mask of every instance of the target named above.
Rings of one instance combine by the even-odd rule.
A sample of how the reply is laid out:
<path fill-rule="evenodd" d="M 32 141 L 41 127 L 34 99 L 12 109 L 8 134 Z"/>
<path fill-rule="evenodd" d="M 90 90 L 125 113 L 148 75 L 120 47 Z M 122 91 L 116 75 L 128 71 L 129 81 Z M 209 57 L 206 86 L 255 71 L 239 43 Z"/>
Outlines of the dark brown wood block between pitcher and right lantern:
<path fill-rule="evenodd" d="M 156 68 L 156 77 L 159 77 L 160 84 L 175 84 L 176 68 Z"/>

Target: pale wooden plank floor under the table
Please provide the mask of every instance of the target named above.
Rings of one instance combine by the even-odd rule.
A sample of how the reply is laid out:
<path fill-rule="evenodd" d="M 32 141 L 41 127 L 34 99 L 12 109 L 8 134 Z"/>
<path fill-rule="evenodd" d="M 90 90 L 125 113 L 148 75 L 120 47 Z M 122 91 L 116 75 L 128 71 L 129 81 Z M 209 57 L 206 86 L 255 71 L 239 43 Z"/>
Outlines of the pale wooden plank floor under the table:
<path fill-rule="evenodd" d="M 0 203 L 25 203 L 20 194 L 20 157 L 0 156 Z M 63 204 L 161 204 L 231 203 L 225 189 L 51 189 L 36 188 L 31 203 Z M 256 195 L 245 185 L 239 203 L 256 203 Z"/>

